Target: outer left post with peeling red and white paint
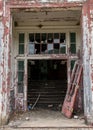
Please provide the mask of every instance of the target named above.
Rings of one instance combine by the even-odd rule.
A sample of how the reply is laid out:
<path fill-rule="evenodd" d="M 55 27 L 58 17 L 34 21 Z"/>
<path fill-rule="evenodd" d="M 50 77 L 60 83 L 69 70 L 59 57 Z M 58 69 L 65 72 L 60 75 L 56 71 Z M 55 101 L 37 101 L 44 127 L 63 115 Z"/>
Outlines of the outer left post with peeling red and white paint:
<path fill-rule="evenodd" d="M 0 1 L 0 124 L 6 123 L 9 115 L 10 88 L 10 13 L 5 1 Z"/>

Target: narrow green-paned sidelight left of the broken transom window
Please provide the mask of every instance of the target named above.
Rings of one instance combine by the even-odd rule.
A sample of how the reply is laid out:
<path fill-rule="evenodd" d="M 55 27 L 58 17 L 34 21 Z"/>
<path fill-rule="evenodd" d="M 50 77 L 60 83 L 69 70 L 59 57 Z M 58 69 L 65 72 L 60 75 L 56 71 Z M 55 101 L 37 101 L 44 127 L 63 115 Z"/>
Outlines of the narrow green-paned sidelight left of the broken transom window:
<path fill-rule="evenodd" d="M 19 54 L 24 54 L 24 33 L 19 34 Z"/>

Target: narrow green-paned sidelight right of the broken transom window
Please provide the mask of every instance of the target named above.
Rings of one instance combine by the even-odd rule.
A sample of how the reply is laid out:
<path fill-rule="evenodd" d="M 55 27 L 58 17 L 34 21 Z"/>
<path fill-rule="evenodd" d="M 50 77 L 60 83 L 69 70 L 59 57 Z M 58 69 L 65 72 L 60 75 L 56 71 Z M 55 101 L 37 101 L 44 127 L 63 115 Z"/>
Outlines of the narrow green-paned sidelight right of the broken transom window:
<path fill-rule="evenodd" d="M 76 33 L 70 33 L 70 51 L 72 54 L 76 54 Z"/>

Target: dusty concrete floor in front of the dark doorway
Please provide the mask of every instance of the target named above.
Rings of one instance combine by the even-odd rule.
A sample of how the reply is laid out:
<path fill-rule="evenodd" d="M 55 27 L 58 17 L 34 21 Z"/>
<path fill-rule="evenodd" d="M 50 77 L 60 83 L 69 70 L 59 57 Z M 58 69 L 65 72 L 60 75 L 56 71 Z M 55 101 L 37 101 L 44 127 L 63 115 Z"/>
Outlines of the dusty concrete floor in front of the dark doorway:
<path fill-rule="evenodd" d="M 67 119 L 60 111 L 35 109 L 17 114 L 8 126 L 17 127 L 86 127 L 83 116 L 78 119 Z"/>

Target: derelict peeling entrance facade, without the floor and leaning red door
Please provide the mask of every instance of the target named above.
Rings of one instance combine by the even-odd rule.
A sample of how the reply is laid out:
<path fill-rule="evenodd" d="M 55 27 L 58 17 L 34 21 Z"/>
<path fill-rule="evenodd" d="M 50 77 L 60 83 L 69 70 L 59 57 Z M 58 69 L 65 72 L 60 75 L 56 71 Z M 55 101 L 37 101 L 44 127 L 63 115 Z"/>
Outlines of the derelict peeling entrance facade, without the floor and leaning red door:
<path fill-rule="evenodd" d="M 37 99 L 61 111 L 77 60 L 75 109 L 93 124 L 93 0 L 0 0 L 0 124 Z"/>

